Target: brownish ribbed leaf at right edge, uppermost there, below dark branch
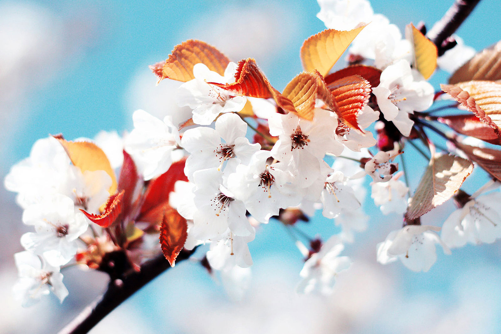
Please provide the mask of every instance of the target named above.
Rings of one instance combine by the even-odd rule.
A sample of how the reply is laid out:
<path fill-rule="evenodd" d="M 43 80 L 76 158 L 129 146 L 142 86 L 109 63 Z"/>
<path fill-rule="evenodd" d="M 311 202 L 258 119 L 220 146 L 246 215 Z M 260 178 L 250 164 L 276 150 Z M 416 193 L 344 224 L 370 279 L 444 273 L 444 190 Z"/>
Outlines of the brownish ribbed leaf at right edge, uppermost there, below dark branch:
<path fill-rule="evenodd" d="M 449 84 L 470 80 L 501 79 L 501 41 L 483 49 L 449 78 Z"/>

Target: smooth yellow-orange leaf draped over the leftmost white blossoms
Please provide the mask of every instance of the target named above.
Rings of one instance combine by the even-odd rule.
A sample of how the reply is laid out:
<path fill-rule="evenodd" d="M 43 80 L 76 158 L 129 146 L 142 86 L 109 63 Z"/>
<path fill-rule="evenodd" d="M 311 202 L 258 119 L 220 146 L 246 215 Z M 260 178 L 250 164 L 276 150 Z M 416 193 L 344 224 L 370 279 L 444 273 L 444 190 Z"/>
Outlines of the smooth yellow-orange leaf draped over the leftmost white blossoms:
<path fill-rule="evenodd" d="M 115 172 L 111 168 L 106 154 L 96 144 L 91 142 L 69 142 L 62 136 L 55 137 L 63 145 L 71 162 L 83 172 L 104 170 L 111 177 L 111 186 L 108 189 L 110 195 L 117 191 Z"/>

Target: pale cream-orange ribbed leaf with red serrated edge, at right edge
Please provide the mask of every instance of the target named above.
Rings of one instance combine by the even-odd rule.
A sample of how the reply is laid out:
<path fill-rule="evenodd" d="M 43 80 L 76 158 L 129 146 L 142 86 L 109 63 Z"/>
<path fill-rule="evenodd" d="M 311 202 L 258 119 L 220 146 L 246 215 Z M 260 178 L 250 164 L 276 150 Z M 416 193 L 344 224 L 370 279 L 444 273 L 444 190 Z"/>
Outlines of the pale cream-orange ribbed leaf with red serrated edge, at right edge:
<path fill-rule="evenodd" d="M 468 81 L 457 85 L 440 85 L 442 91 L 449 94 L 463 107 L 494 133 L 501 136 L 501 84 L 491 81 Z"/>

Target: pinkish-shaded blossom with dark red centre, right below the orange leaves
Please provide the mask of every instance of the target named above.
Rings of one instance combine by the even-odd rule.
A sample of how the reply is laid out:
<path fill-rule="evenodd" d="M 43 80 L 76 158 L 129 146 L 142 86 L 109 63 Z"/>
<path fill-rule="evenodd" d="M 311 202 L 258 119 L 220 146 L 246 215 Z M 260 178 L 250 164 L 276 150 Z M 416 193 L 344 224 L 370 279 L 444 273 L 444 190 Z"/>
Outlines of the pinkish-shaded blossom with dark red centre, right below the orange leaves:
<path fill-rule="evenodd" d="M 320 163 L 326 152 L 339 155 L 343 151 L 333 134 L 337 120 L 330 114 L 317 108 L 312 122 L 292 113 L 276 114 L 269 119 L 270 134 L 279 136 L 272 156 L 288 165 L 299 188 L 306 188 L 319 178 Z"/>

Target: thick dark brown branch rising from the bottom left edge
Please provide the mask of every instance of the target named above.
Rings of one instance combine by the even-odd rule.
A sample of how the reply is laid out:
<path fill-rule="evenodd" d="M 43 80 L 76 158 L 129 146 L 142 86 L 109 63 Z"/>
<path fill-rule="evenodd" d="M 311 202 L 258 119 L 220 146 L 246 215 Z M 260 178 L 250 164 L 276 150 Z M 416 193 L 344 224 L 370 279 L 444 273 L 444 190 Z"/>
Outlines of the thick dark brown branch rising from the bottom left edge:
<path fill-rule="evenodd" d="M 193 250 L 194 251 L 194 250 Z M 182 250 L 176 263 L 187 259 L 193 251 Z M 141 266 L 141 271 L 125 270 L 130 265 L 124 261 L 123 252 L 109 253 L 107 263 L 113 263 L 110 268 L 110 283 L 106 292 L 88 305 L 76 318 L 66 325 L 59 334 L 84 334 L 89 332 L 99 321 L 113 311 L 124 300 L 149 283 L 162 272 L 170 268 L 169 262 L 163 254 L 159 254 Z M 102 269 L 107 271 L 106 268 Z M 120 271 L 124 272 L 119 273 Z"/>

